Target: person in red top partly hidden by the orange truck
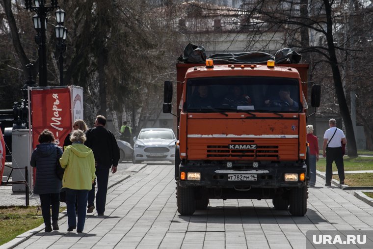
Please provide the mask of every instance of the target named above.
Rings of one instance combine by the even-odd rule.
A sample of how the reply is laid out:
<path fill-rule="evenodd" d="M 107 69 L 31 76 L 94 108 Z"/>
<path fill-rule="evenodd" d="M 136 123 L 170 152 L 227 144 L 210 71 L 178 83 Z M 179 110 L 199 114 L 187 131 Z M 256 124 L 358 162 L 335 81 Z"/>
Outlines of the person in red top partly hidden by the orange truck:
<path fill-rule="evenodd" d="M 307 125 L 307 141 L 310 144 L 310 187 L 315 187 L 316 184 L 316 162 L 319 161 L 319 142 L 318 138 L 313 134 L 313 125 Z"/>

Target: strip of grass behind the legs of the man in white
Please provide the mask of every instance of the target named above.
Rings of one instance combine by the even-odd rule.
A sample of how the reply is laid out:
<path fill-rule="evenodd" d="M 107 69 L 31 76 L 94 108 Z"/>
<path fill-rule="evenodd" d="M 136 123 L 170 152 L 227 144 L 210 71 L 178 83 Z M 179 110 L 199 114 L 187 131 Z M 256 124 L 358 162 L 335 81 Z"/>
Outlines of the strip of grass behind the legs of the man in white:
<path fill-rule="evenodd" d="M 316 168 L 325 172 L 326 159 L 320 156 L 319 162 L 316 163 Z M 373 170 L 373 157 L 344 157 L 345 171 L 347 170 Z M 337 171 L 335 163 L 333 163 L 333 171 Z"/>

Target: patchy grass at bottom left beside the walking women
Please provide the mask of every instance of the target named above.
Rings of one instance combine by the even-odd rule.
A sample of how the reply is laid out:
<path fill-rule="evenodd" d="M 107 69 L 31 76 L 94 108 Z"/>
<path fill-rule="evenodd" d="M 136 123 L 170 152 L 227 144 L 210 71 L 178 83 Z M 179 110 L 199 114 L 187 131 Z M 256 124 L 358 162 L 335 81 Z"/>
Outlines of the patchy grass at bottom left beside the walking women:
<path fill-rule="evenodd" d="M 60 212 L 65 207 L 60 208 Z M 0 207 L 0 245 L 43 223 L 38 207 Z"/>

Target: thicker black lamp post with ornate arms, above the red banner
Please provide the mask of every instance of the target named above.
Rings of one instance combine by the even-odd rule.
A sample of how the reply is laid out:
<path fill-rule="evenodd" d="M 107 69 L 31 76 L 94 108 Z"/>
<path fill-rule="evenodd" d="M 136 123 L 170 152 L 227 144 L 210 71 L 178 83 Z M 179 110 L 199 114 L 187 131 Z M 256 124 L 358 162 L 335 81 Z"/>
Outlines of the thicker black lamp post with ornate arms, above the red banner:
<path fill-rule="evenodd" d="M 26 9 L 36 13 L 32 17 L 34 28 L 38 32 L 35 36 L 35 42 L 39 45 L 39 86 L 47 86 L 47 52 L 46 52 L 46 35 L 47 13 L 58 8 L 58 1 L 51 0 L 51 5 L 46 4 L 47 0 L 25 0 Z M 44 24 L 44 25 L 43 25 Z"/>

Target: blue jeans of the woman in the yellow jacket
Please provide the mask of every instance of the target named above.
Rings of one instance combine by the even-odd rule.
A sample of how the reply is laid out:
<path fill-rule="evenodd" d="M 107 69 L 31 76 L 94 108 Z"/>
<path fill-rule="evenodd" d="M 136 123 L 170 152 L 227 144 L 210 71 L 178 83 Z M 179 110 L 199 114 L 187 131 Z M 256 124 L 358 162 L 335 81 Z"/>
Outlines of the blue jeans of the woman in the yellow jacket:
<path fill-rule="evenodd" d="M 72 190 L 66 189 L 66 207 L 69 227 L 77 227 L 77 231 L 83 231 L 85 215 L 87 214 L 86 206 L 89 190 Z M 75 213 L 75 201 L 78 196 L 78 226 Z"/>

